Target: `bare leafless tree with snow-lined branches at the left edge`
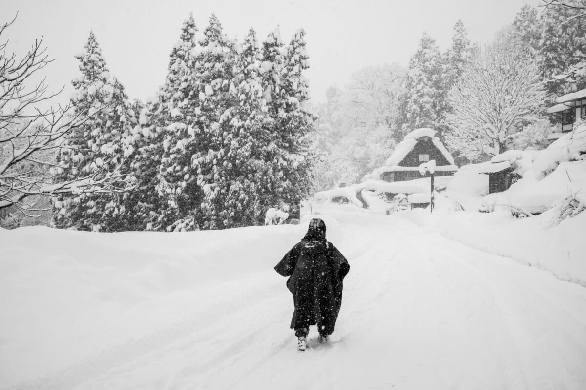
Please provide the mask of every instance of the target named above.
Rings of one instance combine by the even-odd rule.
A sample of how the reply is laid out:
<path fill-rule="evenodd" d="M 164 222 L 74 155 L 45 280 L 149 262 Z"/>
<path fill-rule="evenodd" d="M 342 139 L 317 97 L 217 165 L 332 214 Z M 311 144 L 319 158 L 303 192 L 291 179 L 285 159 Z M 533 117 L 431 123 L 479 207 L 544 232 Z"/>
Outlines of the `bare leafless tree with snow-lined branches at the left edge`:
<path fill-rule="evenodd" d="M 119 170 L 105 173 L 96 168 L 86 177 L 54 183 L 43 168 L 62 168 L 43 154 L 60 147 L 60 140 L 83 125 L 88 116 L 71 113 L 70 106 L 45 111 L 36 108 L 60 91 L 47 94 L 44 79 L 29 88 L 30 77 L 52 61 L 42 47 L 42 39 L 21 58 L 6 54 L 2 34 L 14 21 L 0 25 L 0 209 L 16 206 L 34 210 L 26 202 L 30 196 L 125 191 L 129 184 Z M 104 106 L 98 106 L 96 111 L 102 109 Z"/>

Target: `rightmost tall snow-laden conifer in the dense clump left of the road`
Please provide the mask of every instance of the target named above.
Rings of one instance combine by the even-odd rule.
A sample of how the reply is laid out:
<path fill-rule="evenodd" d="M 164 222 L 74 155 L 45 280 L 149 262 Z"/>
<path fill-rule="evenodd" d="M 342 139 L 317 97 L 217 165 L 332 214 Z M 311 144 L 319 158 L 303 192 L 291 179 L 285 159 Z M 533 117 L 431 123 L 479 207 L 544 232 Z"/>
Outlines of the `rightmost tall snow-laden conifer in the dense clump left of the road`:
<path fill-rule="evenodd" d="M 315 116 L 307 109 L 309 86 L 304 71 L 309 68 L 305 49 L 305 32 L 298 30 L 287 46 L 280 77 L 280 90 L 271 104 L 277 111 L 275 145 L 282 180 L 279 183 L 282 202 L 291 214 L 299 212 L 299 202 L 311 191 L 315 156 L 311 153 L 308 134 L 314 132 Z M 280 174 L 279 174 L 280 175 Z"/>

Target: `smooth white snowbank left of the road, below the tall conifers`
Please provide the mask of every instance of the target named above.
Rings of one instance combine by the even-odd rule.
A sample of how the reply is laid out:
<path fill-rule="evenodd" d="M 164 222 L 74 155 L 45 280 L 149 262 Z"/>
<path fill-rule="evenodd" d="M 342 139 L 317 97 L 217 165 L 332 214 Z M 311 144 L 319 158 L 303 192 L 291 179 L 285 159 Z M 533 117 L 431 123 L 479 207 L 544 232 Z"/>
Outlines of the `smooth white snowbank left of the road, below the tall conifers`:
<path fill-rule="evenodd" d="M 202 290 L 217 287 L 222 298 L 227 280 L 272 270 L 306 229 L 171 234 L 0 228 L 1 387 L 34 379 L 32 373 L 64 370 L 97 350 L 205 310 L 211 297 L 202 299 Z"/>

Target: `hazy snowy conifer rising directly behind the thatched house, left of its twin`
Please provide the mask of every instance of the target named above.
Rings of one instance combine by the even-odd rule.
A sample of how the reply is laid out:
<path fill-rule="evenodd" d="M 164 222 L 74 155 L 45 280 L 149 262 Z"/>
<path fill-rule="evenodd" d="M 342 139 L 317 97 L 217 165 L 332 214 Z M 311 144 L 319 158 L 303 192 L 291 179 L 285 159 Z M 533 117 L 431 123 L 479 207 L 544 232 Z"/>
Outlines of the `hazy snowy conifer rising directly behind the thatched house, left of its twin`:
<path fill-rule="evenodd" d="M 417 51 L 409 61 L 398 118 L 401 130 L 395 132 L 396 139 L 402 139 L 405 134 L 419 127 L 437 129 L 441 74 L 442 61 L 438 46 L 429 34 L 424 33 Z"/>

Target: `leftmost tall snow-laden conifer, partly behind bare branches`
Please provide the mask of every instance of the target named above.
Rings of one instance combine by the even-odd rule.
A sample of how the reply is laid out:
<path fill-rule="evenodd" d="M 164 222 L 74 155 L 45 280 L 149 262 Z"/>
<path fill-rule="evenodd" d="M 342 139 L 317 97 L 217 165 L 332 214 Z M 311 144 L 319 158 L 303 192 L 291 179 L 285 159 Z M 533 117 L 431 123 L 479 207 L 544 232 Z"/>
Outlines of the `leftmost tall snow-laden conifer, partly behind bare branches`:
<path fill-rule="evenodd" d="M 56 181 L 69 181 L 99 171 L 93 180 L 119 172 L 120 177 L 99 192 L 58 195 L 54 201 L 56 227 L 106 232 L 128 230 L 131 211 L 124 204 L 125 189 L 133 180 L 131 156 L 140 134 L 124 87 L 110 73 L 93 32 L 85 51 L 76 56 L 81 77 L 73 80 L 74 113 L 88 116 L 73 129 L 57 156 Z"/>

